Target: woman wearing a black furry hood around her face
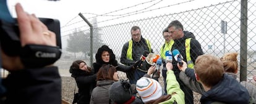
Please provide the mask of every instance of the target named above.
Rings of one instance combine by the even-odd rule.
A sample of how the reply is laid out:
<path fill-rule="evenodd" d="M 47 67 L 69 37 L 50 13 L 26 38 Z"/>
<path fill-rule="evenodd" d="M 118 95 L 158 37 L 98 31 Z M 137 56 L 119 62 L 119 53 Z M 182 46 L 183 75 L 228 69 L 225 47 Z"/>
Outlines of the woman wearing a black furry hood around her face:
<path fill-rule="evenodd" d="M 139 63 L 137 62 L 134 65 L 130 66 L 119 64 L 116 60 L 116 55 L 114 55 L 113 50 L 109 49 L 109 47 L 106 45 L 103 45 L 98 49 L 95 58 L 96 62 L 93 63 L 93 69 L 95 70 L 95 72 L 98 72 L 98 70 L 103 64 L 113 65 L 116 67 L 117 71 L 129 72 L 134 70 L 137 64 Z"/>

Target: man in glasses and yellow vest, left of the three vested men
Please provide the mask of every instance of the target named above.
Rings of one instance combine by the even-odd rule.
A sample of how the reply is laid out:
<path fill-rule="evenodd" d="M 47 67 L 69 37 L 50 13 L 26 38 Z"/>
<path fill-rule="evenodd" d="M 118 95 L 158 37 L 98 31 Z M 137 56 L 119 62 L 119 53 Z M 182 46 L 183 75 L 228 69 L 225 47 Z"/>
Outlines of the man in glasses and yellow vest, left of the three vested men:
<path fill-rule="evenodd" d="M 130 30 L 132 39 L 126 42 L 122 47 L 121 63 L 124 65 L 134 65 L 135 62 L 140 60 L 140 57 L 147 52 L 153 52 L 151 44 L 148 39 L 142 37 L 140 27 L 132 26 Z M 142 62 L 136 70 L 126 73 L 129 78 L 130 84 L 136 84 L 137 80 L 140 79 L 144 74 L 147 74 L 149 66 L 146 62 Z"/>

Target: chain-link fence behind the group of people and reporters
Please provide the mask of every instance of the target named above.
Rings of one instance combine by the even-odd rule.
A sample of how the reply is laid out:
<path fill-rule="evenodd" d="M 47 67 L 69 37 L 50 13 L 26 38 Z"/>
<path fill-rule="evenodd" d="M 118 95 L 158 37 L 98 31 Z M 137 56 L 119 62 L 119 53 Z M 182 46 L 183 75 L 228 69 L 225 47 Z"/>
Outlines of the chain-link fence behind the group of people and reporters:
<path fill-rule="evenodd" d="M 247 81 L 252 82 L 252 76 L 256 74 L 256 1 L 247 2 L 248 12 L 241 14 L 241 1 L 227 1 L 195 10 L 187 10 L 179 13 L 161 15 L 158 17 L 143 18 L 126 23 L 120 21 L 119 24 L 98 27 L 96 20 L 93 21 L 93 62 L 95 62 L 95 52 L 103 44 L 113 49 L 116 59 L 120 62 L 122 46 L 131 39 L 130 28 L 140 26 L 142 36 L 150 40 L 151 48 L 156 54 L 160 54 L 160 48 L 164 43 L 162 31 L 173 20 L 179 20 L 184 26 L 184 30 L 194 33 L 195 38 L 202 45 L 205 54 L 212 54 L 218 57 L 227 52 L 238 52 L 239 63 L 246 62 Z M 241 15 L 247 14 L 247 18 Z M 247 39 L 244 39 L 244 30 L 241 31 L 241 20 L 247 20 Z M 81 19 L 82 20 L 82 19 Z M 227 31 L 221 31 L 221 23 L 227 23 Z M 80 22 L 87 25 L 85 22 Z M 225 25 L 223 25 L 225 26 Z M 63 30 L 62 30 L 63 31 Z M 70 30 L 67 30 L 70 31 Z M 246 34 L 245 34 L 246 37 Z M 244 42 L 244 40 L 247 40 Z M 75 44 L 70 44 L 74 42 Z M 244 48 L 242 44 L 246 44 Z M 82 59 L 90 63 L 90 29 L 85 26 L 75 26 L 70 33 L 62 33 L 63 54 L 56 62 L 62 76 L 70 76 L 69 66 L 74 60 Z M 244 54 L 247 53 L 247 57 Z M 243 57 L 242 57 L 243 56 Z M 245 60 L 244 60 L 245 58 Z M 119 76 L 126 77 L 120 73 Z M 238 76 L 239 77 L 239 76 Z M 162 79 L 160 83 L 163 84 Z M 198 95 L 198 94 L 195 94 Z M 65 96 L 65 95 L 64 95 Z M 198 103 L 200 95 L 194 96 Z"/>

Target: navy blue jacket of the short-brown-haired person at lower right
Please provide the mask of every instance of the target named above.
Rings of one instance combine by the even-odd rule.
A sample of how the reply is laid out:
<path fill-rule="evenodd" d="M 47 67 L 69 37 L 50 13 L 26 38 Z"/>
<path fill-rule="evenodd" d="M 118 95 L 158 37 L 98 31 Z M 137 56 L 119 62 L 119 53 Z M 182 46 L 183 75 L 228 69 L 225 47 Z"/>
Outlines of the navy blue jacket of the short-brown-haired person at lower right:
<path fill-rule="evenodd" d="M 210 90 L 204 92 L 200 98 L 201 103 L 223 102 L 232 104 L 249 103 L 250 95 L 236 79 L 224 74 L 223 79 Z"/>

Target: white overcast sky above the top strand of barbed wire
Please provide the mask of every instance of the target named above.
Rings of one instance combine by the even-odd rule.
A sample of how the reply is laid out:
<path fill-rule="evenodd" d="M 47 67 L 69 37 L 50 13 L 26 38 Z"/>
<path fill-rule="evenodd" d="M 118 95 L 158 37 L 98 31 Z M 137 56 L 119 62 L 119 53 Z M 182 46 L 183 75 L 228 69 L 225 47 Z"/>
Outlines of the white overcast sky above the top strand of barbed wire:
<path fill-rule="evenodd" d="M 7 4 L 11 14 L 15 15 L 15 3 L 20 2 L 29 14 L 35 13 L 37 17 L 48 17 L 57 18 L 61 22 L 61 26 L 66 25 L 78 14 L 81 13 L 92 13 L 92 14 L 106 14 L 108 12 L 114 12 L 113 14 L 124 14 L 129 12 L 134 12 L 135 10 L 142 10 L 148 7 L 146 10 L 156 9 L 158 7 L 172 6 L 180 2 L 187 2 L 177 5 L 174 9 L 164 7 L 161 12 L 153 10 L 150 14 L 143 15 L 145 17 L 153 17 L 154 15 L 169 14 L 170 10 L 191 10 L 197 9 L 198 7 L 210 6 L 210 4 L 218 4 L 219 2 L 224 2 L 221 0 L 60 0 L 60 1 L 47 1 L 47 0 L 7 0 Z M 142 4 L 145 2 L 144 4 Z M 136 6 L 138 5 L 138 6 Z M 129 9 L 125 9 L 130 7 Z M 124 10 L 120 10 L 124 9 Z M 95 15 L 83 14 L 86 18 L 93 17 Z M 80 18 L 80 17 L 79 17 Z M 114 17 L 111 17 L 114 18 Z M 142 18 L 142 17 L 139 17 Z M 100 18 L 101 20 L 106 20 L 106 18 Z M 136 18 L 135 18 L 136 19 Z"/>

